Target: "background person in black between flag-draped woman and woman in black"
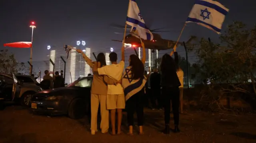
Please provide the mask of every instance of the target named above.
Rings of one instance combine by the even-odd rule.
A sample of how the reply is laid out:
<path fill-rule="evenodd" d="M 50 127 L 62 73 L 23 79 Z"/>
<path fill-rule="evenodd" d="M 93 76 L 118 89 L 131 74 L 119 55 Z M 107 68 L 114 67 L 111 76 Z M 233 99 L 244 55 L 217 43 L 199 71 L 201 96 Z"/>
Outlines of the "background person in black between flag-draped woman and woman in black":
<path fill-rule="evenodd" d="M 151 103 L 152 110 L 157 108 L 156 100 L 158 101 L 158 109 L 162 110 L 162 100 L 161 100 L 161 74 L 155 68 L 153 73 L 150 75 L 150 90 L 151 90 Z"/>

